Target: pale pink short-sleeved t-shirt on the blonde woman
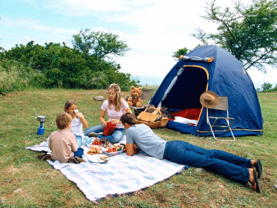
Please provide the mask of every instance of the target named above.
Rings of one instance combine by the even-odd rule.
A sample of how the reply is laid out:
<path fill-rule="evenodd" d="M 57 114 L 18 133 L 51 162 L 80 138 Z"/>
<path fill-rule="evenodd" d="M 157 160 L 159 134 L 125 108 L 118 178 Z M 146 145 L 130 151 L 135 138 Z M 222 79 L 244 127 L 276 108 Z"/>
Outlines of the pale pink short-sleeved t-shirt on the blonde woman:
<path fill-rule="evenodd" d="M 110 105 L 111 109 L 109 109 L 109 107 L 108 107 L 108 104 L 109 104 L 109 103 L 108 103 L 108 102 L 109 102 L 108 100 L 105 100 L 105 101 L 103 102 L 102 106 L 101 106 L 101 109 L 102 109 L 102 110 L 106 110 L 106 111 L 108 112 L 109 121 L 111 121 L 112 119 L 117 119 L 117 120 L 119 120 L 120 117 L 121 117 L 124 113 L 126 113 L 127 108 L 129 108 L 128 103 L 127 103 L 125 100 L 123 100 L 123 99 L 121 99 L 121 105 L 120 105 L 120 110 L 119 110 L 119 111 L 116 111 L 116 110 L 115 110 L 115 106 L 112 105 L 112 104 Z M 116 125 L 116 128 L 124 128 L 124 127 L 123 127 L 122 123 L 118 123 L 118 124 Z"/>

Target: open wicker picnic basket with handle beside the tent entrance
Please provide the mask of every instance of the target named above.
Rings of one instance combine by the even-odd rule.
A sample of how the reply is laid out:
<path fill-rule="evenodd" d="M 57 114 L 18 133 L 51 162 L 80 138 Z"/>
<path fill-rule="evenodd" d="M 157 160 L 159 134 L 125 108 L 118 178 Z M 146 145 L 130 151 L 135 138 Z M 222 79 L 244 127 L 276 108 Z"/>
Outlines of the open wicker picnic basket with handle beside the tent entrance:
<path fill-rule="evenodd" d="M 158 111 L 158 114 L 148 113 L 147 111 L 149 109 L 154 109 L 155 111 Z M 157 108 L 147 108 L 146 111 L 141 112 L 137 116 L 138 124 L 144 123 L 145 125 L 149 126 L 150 128 L 161 128 L 165 127 L 168 123 L 168 118 L 161 117 L 161 120 L 155 121 L 159 116 L 161 115 L 161 111 Z"/>

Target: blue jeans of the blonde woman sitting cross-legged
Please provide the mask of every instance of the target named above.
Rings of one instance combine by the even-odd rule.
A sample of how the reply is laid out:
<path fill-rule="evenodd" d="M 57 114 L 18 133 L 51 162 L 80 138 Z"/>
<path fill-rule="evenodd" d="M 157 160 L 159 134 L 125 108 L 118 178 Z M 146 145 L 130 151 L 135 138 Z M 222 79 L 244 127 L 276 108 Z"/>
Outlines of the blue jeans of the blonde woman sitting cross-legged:
<path fill-rule="evenodd" d="M 93 126 L 91 128 L 88 128 L 84 131 L 84 135 L 88 136 L 89 133 L 94 132 L 94 133 L 99 133 L 103 132 L 103 125 L 100 124 L 98 126 Z M 98 138 L 108 138 L 111 143 L 118 143 L 122 137 L 124 136 L 125 129 L 124 128 L 115 128 L 114 132 L 112 133 L 111 136 L 105 136 L 104 134 L 98 135 Z"/>

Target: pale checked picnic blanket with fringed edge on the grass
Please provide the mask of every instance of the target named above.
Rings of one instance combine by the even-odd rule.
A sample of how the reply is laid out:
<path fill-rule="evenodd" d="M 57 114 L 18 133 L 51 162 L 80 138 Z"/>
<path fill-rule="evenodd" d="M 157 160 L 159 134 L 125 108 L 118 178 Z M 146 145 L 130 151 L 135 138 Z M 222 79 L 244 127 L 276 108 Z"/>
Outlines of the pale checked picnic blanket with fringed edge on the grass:
<path fill-rule="evenodd" d="M 94 203 L 98 203 L 97 201 L 104 197 L 137 194 L 142 189 L 188 168 L 166 159 L 153 158 L 143 151 L 131 157 L 122 153 L 110 157 L 108 162 L 93 163 L 88 161 L 88 148 L 81 147 L 84 148 L 83 159 L 86 163 L 72 164 L 49 160 L 47 162 L 67 179 L 75 182 L 86 198 Z M 26 149 L 51 152 L 47 142 Z"/>

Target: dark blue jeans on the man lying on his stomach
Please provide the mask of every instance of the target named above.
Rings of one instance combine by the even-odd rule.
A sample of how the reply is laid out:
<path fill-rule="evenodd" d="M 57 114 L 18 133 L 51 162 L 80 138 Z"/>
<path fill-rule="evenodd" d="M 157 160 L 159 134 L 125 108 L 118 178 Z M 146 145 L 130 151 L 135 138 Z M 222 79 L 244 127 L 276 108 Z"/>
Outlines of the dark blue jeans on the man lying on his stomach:
<path fill-rule="evenodd" d="M 205 168 L 247 184 L 251 160 L 218 149 L 204 149 L 184 141 L 167 141 L 163 158 L 193 167 Z"/>

